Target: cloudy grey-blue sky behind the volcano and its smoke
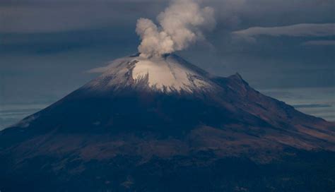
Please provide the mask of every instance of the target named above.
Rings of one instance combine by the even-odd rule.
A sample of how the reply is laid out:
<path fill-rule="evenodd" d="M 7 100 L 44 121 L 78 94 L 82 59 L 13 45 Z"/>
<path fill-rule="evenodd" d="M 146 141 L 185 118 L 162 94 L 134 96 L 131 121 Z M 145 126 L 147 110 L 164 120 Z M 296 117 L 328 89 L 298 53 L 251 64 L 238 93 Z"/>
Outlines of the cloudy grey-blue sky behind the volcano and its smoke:
<path fill-rule="evenodd" d="M 334 0 L 202 1 L 216 25 L 176 52 L 217 76 L 335 121 Z M 0 129 L 79 88 L 91 68 L 137 52 L 136 21 L 163 0 L 0 1 Z"/>

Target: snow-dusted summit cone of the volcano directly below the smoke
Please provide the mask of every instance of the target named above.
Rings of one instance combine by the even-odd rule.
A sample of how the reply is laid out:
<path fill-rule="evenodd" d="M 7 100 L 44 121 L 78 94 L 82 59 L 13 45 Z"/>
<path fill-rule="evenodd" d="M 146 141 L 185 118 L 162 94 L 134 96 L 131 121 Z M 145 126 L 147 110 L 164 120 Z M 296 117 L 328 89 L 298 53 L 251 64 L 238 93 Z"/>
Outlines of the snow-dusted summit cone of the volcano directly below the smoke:
<path fill-rule="evenodd" d="M 94 90 L 139 85 L 162 92 L 194 92 L 212 88 L 205 71 L 174 54 L 150 59 L 129 56 L 92 71 L 102 73 L 86 85 L 86 88 Z"/>

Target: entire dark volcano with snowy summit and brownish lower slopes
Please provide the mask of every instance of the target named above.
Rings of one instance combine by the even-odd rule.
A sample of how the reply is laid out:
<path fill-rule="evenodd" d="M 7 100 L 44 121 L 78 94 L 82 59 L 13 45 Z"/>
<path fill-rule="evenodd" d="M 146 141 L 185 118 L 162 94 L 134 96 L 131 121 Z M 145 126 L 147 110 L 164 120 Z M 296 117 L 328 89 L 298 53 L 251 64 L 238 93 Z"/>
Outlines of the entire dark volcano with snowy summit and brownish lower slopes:
<path fill-rule="evenodd" d="M 139 54 L 0 132 L 3 191 L 334 191 L 335 124 Z"/>

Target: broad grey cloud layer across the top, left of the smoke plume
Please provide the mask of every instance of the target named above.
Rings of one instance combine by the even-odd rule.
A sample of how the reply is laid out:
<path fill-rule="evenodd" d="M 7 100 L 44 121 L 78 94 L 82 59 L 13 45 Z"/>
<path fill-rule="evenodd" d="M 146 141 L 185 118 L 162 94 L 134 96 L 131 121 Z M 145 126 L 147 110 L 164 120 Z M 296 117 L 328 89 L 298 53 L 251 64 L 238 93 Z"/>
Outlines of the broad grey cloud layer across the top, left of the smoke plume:
<path fill-rule="evenodd" d="M 121 27 L 143 12 L 153 15 L 159 4 L 160 1 L 135 0 L 4 0 L 0 2 L 0 32 L 49 33 Z"/>

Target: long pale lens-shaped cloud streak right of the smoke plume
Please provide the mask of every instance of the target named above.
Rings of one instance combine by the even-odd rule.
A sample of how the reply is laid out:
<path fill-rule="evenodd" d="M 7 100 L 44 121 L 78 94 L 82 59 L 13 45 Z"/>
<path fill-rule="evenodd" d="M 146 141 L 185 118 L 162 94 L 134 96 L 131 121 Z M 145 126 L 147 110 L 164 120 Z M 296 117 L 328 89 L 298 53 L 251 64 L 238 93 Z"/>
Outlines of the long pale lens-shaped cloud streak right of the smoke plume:
<path fill-rule="evenodd" d="M 245 30 L 232 32 L 237 37 L 242 37 L 247 41 L 255 41 L 255 37 L 266 36 L 290 36 L 290 37 L 327 37 L 334 34 L 335 23 L 300 23 L 296 25 L 287 25 L 280 27 L 252 27 Z"/>

